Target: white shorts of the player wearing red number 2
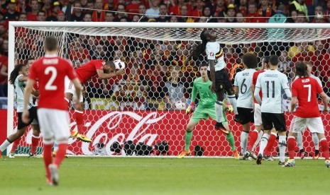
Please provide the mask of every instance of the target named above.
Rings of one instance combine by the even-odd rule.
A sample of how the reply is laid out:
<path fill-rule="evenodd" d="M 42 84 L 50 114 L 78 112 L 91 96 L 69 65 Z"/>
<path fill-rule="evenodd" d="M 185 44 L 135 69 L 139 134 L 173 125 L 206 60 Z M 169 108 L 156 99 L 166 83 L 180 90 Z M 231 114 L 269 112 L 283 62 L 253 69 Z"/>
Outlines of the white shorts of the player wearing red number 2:
<path fill-rule="evenodd" d="M 69 112 L 48 108 L 38 108 L 38 120 L 44 142 L 70 138 Z"/>

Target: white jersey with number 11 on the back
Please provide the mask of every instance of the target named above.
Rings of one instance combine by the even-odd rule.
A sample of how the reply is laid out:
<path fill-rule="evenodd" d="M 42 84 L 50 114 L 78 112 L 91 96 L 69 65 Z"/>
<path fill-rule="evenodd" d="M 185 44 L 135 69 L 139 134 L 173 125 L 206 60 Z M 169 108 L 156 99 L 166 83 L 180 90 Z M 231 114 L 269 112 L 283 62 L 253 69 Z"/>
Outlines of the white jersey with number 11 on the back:
<path fill-rule="evenodd" d="M 290 89 L 287 76 L 277 70 L 267 70 L 260 73 L 255 85 L 261 88 L 263 100 L 261 112 L 282 113 L 282 93 L 283 89 Z"/>

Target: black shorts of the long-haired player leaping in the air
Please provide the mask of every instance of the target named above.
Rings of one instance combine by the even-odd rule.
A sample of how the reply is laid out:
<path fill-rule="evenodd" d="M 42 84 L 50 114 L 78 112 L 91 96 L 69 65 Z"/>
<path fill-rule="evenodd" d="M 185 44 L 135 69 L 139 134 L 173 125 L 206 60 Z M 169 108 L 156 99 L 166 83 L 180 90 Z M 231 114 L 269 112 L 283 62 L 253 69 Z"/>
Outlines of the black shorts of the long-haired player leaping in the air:
<path fill-rule="evenodd" d="M 209 76 L 209 80 L 212 81 L 210 71 L 207 71 L 207 76 Z M 229 91 L 231 88 L 233 88 L 233 84 L 229 80 L 229 75 L 225 69 L 216 71 L 215 76 L 216 76 L 216 81 L 215 81 L 216 92 L 221 91 L 221 90 Z"/>

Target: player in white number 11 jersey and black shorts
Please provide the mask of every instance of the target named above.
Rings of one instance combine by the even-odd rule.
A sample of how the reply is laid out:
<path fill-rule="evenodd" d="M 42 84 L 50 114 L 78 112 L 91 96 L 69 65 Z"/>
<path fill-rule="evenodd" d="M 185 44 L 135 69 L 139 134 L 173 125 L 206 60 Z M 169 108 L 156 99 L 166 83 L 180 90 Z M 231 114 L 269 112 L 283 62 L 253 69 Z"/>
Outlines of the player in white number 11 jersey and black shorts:
<path fill-rule="evenodd" d="M 273 129 L 273 125 L 278 131 L 279 140 L 278 148 L 280 150 L 280 165 L 285 163 L 285 150 L 287 148 L 286 138 L 286 124 L 285 115 L 282 112 L 282 88 L 285 90 L 287 98 L 291 98 L 290 86 L 287 81 L 287 76 L 278 68 L 278 57 L 276 55 L 270 56 L 270 69 L 260 73 L 255 85 L 254 97 L 261 105 L 261 119 L 263 121 L 264 134 L 260 141 L 260 148 L 258 158 L 256 160 L 257 165 L 261 165 L 263 160 L 263 150 L 268 143 L 270 137 L 270 131 Z M 263 93 L 263 100 L 261 101 L 259 92 Z"/>

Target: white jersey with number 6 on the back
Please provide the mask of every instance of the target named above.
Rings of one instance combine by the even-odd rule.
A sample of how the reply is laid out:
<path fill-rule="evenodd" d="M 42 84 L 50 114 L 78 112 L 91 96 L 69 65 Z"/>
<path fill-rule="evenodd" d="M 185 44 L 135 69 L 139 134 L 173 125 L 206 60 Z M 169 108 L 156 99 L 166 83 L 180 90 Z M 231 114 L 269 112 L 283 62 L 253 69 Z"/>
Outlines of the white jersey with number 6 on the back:
<path fill-rule="evenodd" d="M 237 107 L 253 108 L 251 84 L 255 69 L 236 73 L 233 85 L 238 87 Z"/>

